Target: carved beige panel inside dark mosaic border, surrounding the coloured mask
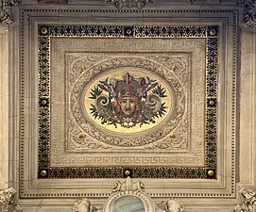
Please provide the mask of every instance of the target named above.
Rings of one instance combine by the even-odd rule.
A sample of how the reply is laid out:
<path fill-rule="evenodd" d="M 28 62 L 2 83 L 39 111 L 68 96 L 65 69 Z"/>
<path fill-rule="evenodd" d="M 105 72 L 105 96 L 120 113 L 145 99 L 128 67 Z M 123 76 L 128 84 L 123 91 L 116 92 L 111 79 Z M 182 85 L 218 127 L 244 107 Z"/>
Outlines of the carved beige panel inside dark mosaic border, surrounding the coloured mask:
<path fill-rule="evenodd" d="M 205 76 L 201 58 L 204 57 L 204 42 L 134 41 L 129 48 L 138 48 L 137 53 L 118 50 L 118 48 L 128 48 L 127 42 L 121 40 L 58 41 L 55 39 L 52 44 L 55 46 L 52 52 L 54 72 L 51 84 L 53 88 L 51 132 L 54 138 L 51 150 L 52 165 L 104 164 L 105 166 L 116 163 L 182 165 L 188 161 L 194 166 L 202 164 L 203 127 L 201 124 L 204 120 Z M 79 51 L 74 50 L 75 46 L 76 48 L 81 46 Z M 116 46 L 115 51 L 118 53 L 108 52 L 106 50 L 108 46 Z M 184 51 L 173 50 L 173 52 L 164 53 L 161 50 L 163 46 L 174 50 L 181 48 Z M 101 51 L 97 50 L 99 47 Z M 88 48 L 93 48 L 94 52 L 81 52 L 82 49 Z M 140 52 L 141 48 L 148 48 L 148 50 L 153 48 L 159 52 L 151 53 L 148 50 Z M 190 51 L 186 52 L 185 49 Z M 192 69 L 197 70 L 197 73 L 192 72 Z M 100 121 L 96 123 L 94 118 L 90 117 L 92 115 L 90 108 L 92 104 L 94 105 L 94 100 L 91 99 L 87 106 L 85 102 L 90 100 L 90 93 L 94 90 L 94 86 L 106 80 L 109 77 L 108 74 L 112 74 L 109 79 L 120 80 L 126 73 L 137 79 L 141 76 L 146 79 L 146 75 L 149 74 L 149 79 L 156 80 L 160 83 L 159 86 L 162 85 L 161 89 L 167 88 L 165 91 L 165 93 L 168 91 L 167 99 L 172 99 L 173 105 L 168 107 L 169 110 L 162 118 L 159 117 L 158 124 L 152 129 L 150 129 L 152 123 L 145 124 L 147 128 L 144 130 L 141 130 L 137 124 L 137 130 L 141 132 L 133 132 L 134 127 L 130 127 L 126 128 L 130 133 L 124 133 L 120 126 L 118 127 L 120 132 L 116 132 L 114 126 L 112 130 L 106 129 L 108 124 L 101 124 Z M 89 93 L 87 96 L 86 92 Z M 108 95 L 107 91 L 105 94 Z M 186 104 L 191 101 L 195 101 L 195 107 Z M 162 100 L 162 103 L 165 102 L 167 101 Z M 192 116 L 196 116 L 197 119 L 190 121 Z M 192 129 L 192 122 L 201 126 Z M 191 143 L 192 137 L 196 137 L 194 143 Z M 141 155 L 142 153 L 145 155 Z M 179 154 L 179 158 L 172 153 Z"/>

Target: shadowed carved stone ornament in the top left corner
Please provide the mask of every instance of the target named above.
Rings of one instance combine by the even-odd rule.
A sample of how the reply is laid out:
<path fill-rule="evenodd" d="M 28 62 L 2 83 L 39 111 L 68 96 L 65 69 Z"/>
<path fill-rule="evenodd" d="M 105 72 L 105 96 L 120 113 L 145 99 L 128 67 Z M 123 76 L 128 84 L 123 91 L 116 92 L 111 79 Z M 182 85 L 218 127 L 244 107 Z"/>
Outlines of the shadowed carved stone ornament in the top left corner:
<path fill-rule="evenodd" d="M 0 8 L 0 23 L 3 25 L 13 24 L 12 8 L 18 6 L 22 0 L 2 0 Z"/>

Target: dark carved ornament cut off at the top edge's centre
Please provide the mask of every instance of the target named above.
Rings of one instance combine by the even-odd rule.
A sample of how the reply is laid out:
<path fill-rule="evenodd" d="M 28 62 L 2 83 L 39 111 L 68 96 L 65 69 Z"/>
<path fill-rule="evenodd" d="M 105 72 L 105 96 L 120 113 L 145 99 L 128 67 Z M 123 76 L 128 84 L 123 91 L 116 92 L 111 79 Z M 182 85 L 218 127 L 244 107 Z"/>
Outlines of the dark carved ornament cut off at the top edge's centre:
<path fill-rule="evenodd" d="M 111 2 L 115 8 L 138 8 L 142 9 L 147 3 L 156 3 L 156 0 L 104 0 L 105 3 Z"/>

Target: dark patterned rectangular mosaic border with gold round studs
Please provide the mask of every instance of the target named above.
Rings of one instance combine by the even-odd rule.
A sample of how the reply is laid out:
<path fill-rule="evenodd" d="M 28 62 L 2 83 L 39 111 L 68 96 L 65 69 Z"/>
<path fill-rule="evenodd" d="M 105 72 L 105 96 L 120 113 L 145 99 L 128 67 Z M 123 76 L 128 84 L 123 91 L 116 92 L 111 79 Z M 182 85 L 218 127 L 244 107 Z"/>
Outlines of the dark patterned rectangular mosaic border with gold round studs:
<path fill-rule="evenodd" d="M 48 25 L 38 27 L 39 90 L 38 90 L 38 177 L 39 178 L 217 178 L 217 62 L 218 26 L 118 26 L 118 25 Z M 205 39 L 205 162 L 200 168 L 176 167 L 112 167 L 52 168 L 50 166 L 50 40 L 54 37 L 77 38 L 176 38 Z"/>

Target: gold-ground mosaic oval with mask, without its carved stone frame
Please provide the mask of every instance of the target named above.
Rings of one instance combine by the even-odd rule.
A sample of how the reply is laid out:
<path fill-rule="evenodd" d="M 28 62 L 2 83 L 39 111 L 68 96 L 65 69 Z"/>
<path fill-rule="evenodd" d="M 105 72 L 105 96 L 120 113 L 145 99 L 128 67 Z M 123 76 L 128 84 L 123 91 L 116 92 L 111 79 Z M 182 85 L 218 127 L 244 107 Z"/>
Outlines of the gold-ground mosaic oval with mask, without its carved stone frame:
<path fill-rule="evenodd" d="M 160 124 L 172 106 L 171 90 L 143 70 L 115 70 L 85 91 L 84 108 L 98 126 L 114 132 L 142 132 Z"/>

